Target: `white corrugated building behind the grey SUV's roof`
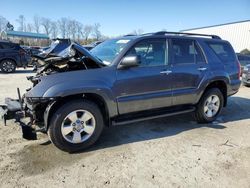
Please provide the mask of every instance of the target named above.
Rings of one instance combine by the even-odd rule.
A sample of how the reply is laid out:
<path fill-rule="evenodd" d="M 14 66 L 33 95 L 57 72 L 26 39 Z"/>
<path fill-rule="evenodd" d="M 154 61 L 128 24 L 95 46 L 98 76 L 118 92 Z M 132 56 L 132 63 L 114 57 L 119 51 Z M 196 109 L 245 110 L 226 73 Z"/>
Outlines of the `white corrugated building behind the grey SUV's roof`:
<path fill-rule="evenodd" d="M 235 52 L 250 50 L 250 20 L 186 29 L 181 32 L 218 35 L 229 41 Z"/>

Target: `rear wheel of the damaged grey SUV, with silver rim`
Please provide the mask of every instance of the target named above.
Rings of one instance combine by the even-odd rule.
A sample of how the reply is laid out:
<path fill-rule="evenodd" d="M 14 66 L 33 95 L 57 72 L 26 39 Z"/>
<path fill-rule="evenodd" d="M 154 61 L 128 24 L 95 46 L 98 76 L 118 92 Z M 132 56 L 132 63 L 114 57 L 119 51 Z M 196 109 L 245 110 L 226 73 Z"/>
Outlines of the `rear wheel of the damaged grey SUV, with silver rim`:
<path fill-rule="evenodd" d="M 198 123 L 211 123 L 216 120 L 224 105 L 224 97 L 218 88 L 207 90 L 201 97 L 195 118 Z"/>

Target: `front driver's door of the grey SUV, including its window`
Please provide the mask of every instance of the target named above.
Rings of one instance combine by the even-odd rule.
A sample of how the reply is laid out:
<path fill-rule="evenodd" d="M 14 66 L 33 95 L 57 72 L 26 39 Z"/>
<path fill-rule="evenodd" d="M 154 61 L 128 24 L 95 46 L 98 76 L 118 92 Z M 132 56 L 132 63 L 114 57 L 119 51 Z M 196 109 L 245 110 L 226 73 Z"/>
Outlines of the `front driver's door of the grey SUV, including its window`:
<path fill-rule="evenodd" d="M 141 58 L 138 67 L 117 70 L 114 91 L 120 114 L 167 107 L 172 104 L 167 41 L 144 39 L 126 55 Z"/>

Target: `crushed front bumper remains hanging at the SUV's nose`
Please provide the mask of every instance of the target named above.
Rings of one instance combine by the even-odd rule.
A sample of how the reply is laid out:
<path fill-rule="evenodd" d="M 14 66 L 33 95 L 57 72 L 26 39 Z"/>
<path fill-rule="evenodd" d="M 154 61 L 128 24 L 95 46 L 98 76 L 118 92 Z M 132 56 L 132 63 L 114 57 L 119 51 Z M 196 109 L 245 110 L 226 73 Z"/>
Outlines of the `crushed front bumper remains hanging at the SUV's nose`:
<path fill-rule="evenodd" d="M 22 119 L 30 118 L 28 123 L 24 123 Z M 36 140 L 37 135 L 32 128 L 32 115 L 28 114 L 22 109 L 22 103 L 19 100 L 6 98 L 5 104 L 0 105 L 0 119 L 6 125 L 7 120 L 15 120 L 15 123 L 19 124 L 22 128 L 23 138 L 27 140 Z"/>

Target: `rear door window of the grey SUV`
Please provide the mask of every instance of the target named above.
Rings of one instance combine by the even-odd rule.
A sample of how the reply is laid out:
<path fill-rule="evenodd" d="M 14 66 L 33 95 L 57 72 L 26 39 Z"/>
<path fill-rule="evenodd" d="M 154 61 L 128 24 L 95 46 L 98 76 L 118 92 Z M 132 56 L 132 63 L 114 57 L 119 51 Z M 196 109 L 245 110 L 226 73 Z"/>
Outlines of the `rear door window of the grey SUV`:
<path fill-rule="evenodd" d="M 172 39 L 172 54 L 175 64 L 205 62 L 201 49 L 190 39 Z"/>

